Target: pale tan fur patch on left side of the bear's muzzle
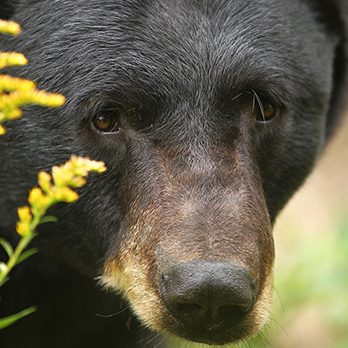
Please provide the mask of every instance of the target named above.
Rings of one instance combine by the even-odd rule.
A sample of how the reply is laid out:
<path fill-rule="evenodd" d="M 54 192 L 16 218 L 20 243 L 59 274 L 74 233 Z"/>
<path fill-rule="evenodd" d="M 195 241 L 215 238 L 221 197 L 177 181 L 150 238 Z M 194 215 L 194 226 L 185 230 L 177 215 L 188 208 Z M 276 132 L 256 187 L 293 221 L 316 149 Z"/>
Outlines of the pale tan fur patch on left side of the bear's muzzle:
<path fill-rule="evenodd" d="M 147 239 L 142 238 L 143 233 L 141 223 L 125 232 L 123 240 L 105 262 L 100 283 L 124 296 L 144 325 L 162 331 L 164 308 L 156 286 L 154 240 L 149 234 Z"/>

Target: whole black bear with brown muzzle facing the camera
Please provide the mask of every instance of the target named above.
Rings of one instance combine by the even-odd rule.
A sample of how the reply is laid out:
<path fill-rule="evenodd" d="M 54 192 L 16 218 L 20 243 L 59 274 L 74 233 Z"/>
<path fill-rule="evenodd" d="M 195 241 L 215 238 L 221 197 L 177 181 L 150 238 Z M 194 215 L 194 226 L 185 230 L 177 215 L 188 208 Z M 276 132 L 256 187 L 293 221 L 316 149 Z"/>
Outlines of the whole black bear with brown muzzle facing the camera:
<path fill-rule="evenodd" d="M 63 93 L 0 138 L 0 235 L 40 170 L 105 161 L 0 289 L 2 348 L 233 344 L 272 297 L 273 222 L 344 101 L 344 3 L 0 0 L 10 70 Z M 2 256 L 5 257 L 4 255 Z M 289 280 L 291 281 L 291 280 Z M 106 292 L 103 288 L 111 291 Z M 154 333 L 153 333 L 154 332 Z"/>

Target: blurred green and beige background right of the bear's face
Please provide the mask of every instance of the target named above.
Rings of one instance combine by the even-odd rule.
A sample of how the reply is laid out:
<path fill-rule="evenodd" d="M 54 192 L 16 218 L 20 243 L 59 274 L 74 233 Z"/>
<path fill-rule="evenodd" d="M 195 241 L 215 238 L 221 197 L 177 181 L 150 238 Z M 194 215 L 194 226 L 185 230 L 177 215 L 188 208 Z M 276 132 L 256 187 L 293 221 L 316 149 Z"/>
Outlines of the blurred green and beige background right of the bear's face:
<path fill-rule="evenodd" d="M 273 311 L 251 348 L 348 347 L 348 117 L 274 230 Z"/>

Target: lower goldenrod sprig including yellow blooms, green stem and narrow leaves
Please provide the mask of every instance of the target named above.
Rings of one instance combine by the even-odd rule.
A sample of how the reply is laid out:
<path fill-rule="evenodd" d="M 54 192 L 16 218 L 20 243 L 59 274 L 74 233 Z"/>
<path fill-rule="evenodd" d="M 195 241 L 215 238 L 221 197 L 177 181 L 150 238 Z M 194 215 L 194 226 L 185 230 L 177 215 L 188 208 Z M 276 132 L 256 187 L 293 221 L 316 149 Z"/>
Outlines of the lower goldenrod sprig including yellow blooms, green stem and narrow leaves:
<path fill-rule="evenodd" d="M 7 263 L 0 262 L 0 286 L 8 280 L 8 275 L 13 267 L 37 252 L 35 248 L 26 248 L 35 238 L 36 228 L 39 224 L 56 221 L 55 217 L 45 216 L 47 210 L 58 202 L 76 201 L 79 195 L 73 188 L 83 186 L 89 172 L 103 173 L 105 170 L 103 162 L 72 156 L 65 164 L 53 167 L 52 174 L 39 173 L 39 185 L 29 193 L 29 206 L 18 209 L 19 221 L 16 228 L 21 238 L 16 248 L 13 249 L 10 243 L 0 238 L 0 246 L 3 247 L 9 258 Z M 0 318 L 0 330 L 35 310 L 34 307 L 30 307 L 9 317 Z"/>

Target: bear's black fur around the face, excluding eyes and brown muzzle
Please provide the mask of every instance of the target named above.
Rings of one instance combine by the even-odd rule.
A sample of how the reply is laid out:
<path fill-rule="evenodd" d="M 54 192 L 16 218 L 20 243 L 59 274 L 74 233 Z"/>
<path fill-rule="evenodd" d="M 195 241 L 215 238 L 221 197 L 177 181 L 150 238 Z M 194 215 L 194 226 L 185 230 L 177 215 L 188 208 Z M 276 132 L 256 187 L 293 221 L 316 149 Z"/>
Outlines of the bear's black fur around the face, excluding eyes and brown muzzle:
<path fill-rule="evenodd" d="M 161 148 L 225 144 L 246 122 L 235 97 L 254 90 L 271 99 L 283 114 L 250 130 L 249 156 L 274 221 L 310 172 L 343 107 L 347 57 L 339 6 L 314 0 L 0 0 L 0 17 L 24 30 L 19 38 L 2 36 L 0 48 L 30 60 L 10 72 L 68 98 L 59 110 L 27 108 L 23 119 L 6 124 L 0 235 L 16 241 L 16 207 L 25 204 L 39 170 L 71 154 L 108 167 L 106 175 L 91 178 L 78 203 L 52 211 L 59 223 L 40 229 L 40 254 L 0 289 L 0 316 L 39 307 L 0 331 L 2 348 L 150 341 L 145 332 L 136 343 L 142 329 L 134 318 L 127 326 L 129 311 L 96 315 L 122 308 L 116 295 L 94 285 L 110 245 L 120 238 L 121 183 L 135 165 L 144 177 L 156 175 L 134 132 Z M 101 138 L 90 129 L 105 103 L 140 110 L 128 120 L 131 141 Z"/>

